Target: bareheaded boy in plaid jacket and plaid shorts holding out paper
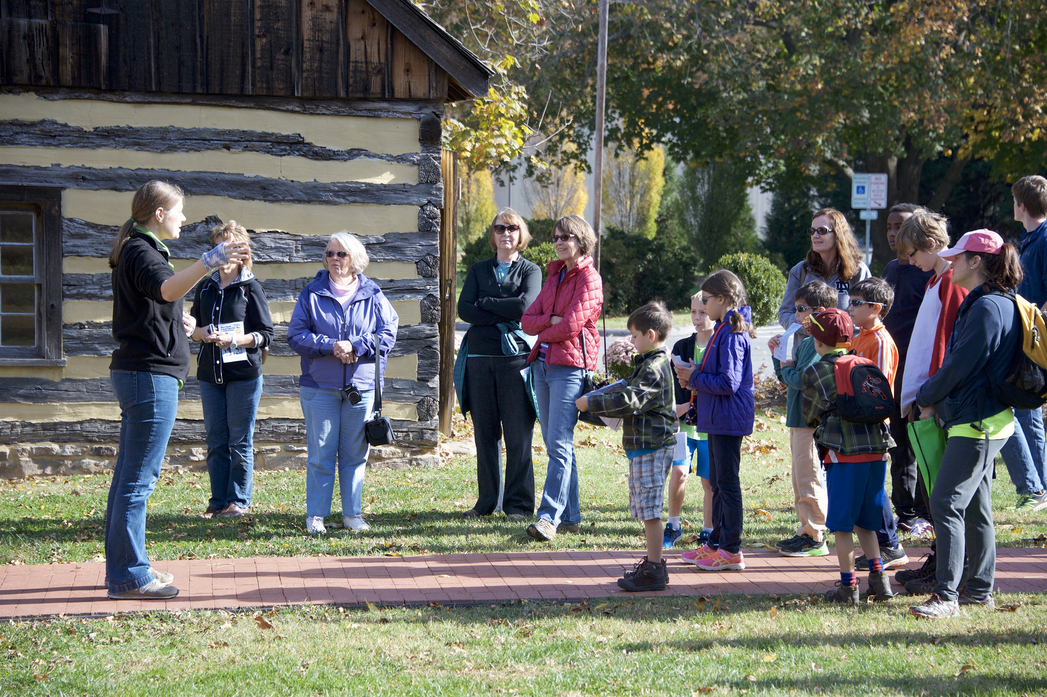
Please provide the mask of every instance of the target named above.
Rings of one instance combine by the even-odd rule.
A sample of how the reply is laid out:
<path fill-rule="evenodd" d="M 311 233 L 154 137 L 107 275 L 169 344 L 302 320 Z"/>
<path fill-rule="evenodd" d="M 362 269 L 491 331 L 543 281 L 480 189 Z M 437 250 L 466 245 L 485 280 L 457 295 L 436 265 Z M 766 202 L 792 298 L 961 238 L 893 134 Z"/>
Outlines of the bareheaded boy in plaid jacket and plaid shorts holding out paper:
<path fill-rule="evenodd" d="M 675 379 L 665 351 L 672 315 L 648 302 L 629 315 L 639 355 L 622 389 L 578 398 L 579 411 L 622 419 L 622 447 L 629 458 L 629 513 L 644 522 L 647 556 L 618 580 L 619 587 L 665 590 L 669 571 L 662 559 L 662 502 L 676 446 Z"/>

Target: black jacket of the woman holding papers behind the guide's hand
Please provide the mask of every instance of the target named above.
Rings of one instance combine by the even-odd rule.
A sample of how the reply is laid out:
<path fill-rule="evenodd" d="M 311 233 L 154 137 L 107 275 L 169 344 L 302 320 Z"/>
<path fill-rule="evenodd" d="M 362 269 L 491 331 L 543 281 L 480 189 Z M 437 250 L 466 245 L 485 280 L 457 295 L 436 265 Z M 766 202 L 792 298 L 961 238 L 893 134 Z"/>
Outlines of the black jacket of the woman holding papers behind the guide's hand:
<path fill-rule="evenodd" d="M 255 334 L 257 343 L 247 348 L 246 361 L 222 362 L 222 350 L 214 343 L 200 344 L 197 356 L 197 379 L 224 384 L 236 380 L 253 380 L 262 375 L 262 348 L 272 342 L 272 318 L 262 285 L 254 274 L 242 269 L 240 277 L 225 288 L 219 286 L 219 272 L 197 284 L 190 311 L 197 327 L 227 322 L 243 322 L 244 334 Z"/>

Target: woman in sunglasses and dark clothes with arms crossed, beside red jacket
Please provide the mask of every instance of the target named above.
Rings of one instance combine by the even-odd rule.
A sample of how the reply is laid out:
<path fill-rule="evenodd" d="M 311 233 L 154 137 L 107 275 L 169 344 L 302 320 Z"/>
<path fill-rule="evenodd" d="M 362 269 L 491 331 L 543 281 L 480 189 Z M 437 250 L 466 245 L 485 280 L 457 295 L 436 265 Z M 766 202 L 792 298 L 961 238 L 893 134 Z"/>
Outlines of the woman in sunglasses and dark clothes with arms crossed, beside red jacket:
<path fill-rule="evenodd" d="M 520 330 L 524 312 L 541 290 L 541 269 L 520 255 L 531 242 L 527 223 L 512 208 L 494 217 L 488 242 L 495 255 L 469 267 L 459 296 L 459 317 L 472 324 L 466 352 L 462 414 L 472 411 L 480 495 L 466 517 L 489 516 L 498 503 L 500 450 L 506 441 L 502 510 L 514 520 L 534 515 L 531 439 L 534 408 L 520 370 L 531 345 Z"/>

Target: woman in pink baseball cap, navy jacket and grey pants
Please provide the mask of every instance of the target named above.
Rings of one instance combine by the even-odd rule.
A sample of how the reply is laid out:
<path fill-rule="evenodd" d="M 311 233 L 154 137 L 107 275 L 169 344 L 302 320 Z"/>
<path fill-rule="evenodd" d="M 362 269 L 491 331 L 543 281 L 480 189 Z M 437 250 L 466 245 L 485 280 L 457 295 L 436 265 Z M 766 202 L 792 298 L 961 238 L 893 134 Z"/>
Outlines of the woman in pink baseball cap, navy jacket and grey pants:
<path fill-rule="evenodd" d="M 920 419 L 937 418 L 946 434 L 931 491 L 937 581 L 931 597 L 910 608 L 933 619 L 956 616 L 960 605 L 994 604 L 993 466 L 1015 432 L 1015 414 L 990 387 L 1004 379 L 1022 340 L 1010 296 L 1022 280 L 1015 248 L 992 230 L 975 230 L 938 253 L 952 260 L 953 283 L 970 293 L 956 313 L 941 367 L 916 394 Z M 960 594 L 964 554 L 971 575 Z"/>

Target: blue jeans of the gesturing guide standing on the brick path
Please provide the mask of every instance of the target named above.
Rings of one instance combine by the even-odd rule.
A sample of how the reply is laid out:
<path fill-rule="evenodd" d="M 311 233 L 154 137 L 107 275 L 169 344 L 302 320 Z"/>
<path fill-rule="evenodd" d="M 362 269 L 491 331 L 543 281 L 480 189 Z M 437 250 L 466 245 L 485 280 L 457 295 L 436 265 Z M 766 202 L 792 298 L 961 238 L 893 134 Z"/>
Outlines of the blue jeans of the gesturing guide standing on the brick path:
<path fill-rule="evenodd" d="M 178 380 L 159 373 L 112 370 L 120 405 L 120 444 L 106 504 L 109 591 L 122 593 L 153 580 L 146 556 L 146 500 L 178 412 Z"/>

